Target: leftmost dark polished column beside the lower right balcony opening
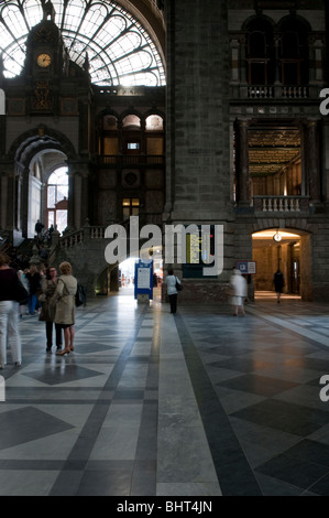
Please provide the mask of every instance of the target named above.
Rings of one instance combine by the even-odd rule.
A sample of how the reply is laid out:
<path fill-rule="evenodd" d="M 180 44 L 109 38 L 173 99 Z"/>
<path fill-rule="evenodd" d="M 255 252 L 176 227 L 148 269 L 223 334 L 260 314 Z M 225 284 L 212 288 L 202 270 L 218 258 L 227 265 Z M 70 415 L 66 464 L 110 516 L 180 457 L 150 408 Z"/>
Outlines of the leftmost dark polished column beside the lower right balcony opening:
<path fill-rule="evenodd" d="M 249 186 L 249 152 L 248 152 L 248 120 L 238 120 L 237 131 L 237 202 L 239 205 L 250 205 Z"/>

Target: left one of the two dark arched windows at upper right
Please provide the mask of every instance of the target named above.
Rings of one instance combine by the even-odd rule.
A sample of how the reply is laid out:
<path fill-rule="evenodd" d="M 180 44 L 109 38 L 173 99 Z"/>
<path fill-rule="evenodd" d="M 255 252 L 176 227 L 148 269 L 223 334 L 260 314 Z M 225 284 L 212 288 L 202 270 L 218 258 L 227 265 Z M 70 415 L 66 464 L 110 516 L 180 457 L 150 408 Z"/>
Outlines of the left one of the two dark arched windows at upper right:
<path fill-rule="evenodd" d="M 257 18 L 248 24 L 245 57 L 249 85 L 274 83 L 273 26 L 270 21 Z"/>

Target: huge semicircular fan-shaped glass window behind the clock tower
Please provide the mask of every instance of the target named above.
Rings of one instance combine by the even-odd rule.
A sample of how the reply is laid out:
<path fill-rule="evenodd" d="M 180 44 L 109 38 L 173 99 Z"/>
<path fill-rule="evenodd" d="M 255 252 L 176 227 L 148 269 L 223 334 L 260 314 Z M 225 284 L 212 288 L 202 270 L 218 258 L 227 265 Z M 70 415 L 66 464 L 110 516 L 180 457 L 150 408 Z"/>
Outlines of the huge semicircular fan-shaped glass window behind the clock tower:
<path fill-rule="evenodd" d="M 111 0 L 53 0 L 55 22 L 72 61 L 89 58 L 91 82 L 100 86 L 162 86 L 161 55 L 142 24 Z M 0 1 L 0 53 L 4 76 L 20 74 L 30 30 L 43 19 L 42 0 Z"/>

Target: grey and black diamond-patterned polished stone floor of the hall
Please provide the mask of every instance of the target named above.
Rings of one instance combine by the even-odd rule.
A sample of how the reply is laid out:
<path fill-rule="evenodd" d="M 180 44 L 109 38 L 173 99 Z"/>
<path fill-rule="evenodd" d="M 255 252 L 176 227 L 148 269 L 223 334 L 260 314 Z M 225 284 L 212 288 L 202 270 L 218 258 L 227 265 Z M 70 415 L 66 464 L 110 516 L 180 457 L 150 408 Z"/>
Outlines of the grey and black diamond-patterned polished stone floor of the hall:
<path fill-rule="evenodd" d="M 20 325 L 23 364 L 0 373 L 1 496 L 329 495 L 328 305 L 174 316 L 99 298 L 68 357 L 46 354 L 36 317 Z"/>

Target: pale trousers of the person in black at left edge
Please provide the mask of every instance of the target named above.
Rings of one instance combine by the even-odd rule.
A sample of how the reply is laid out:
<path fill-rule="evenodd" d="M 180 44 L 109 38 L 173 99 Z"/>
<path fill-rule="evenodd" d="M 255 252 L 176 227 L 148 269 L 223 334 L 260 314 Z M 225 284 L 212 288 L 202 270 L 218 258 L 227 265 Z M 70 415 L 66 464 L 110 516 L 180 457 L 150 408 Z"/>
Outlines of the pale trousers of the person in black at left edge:
<path fill-rule="evenodd" d="M 0 365 L 7 364 L 7 346 L 12 360 L 22 361 L 22 343 L 19 330 L 19 303 L 0 301 Z"/>

